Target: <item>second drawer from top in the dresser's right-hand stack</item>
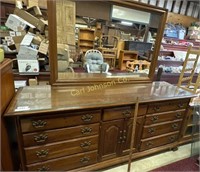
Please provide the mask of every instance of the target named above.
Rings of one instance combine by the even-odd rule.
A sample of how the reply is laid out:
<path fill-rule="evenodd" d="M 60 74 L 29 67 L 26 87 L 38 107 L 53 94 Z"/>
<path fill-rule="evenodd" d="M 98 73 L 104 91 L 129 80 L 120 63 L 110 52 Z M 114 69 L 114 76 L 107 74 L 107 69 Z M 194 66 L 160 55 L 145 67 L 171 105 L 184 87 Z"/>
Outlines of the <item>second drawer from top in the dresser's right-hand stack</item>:
<path fill-rule="evenodd" d="M 183 119 L 184 115 L 185 115 L 185 110 L 177 110 L 171 112 L 156 113 L 153 115 L 146 115 L 145 125 Z"/>

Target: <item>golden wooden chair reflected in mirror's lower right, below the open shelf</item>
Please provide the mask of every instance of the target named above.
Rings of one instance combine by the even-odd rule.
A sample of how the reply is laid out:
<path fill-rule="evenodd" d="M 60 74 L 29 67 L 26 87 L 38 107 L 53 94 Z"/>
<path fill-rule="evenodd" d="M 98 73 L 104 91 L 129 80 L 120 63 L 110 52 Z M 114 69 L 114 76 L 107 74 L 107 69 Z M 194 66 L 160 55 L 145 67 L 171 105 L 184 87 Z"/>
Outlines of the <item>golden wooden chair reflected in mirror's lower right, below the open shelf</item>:
<path fill-rule="evenodd" d="M 146 60 L 134 60 L 134 61 L 127 61 L 126 62 L 126 69 L 127 71 L 135 71 L 135 70 L 144 70 L 149 69 L 151 63 Z"/>

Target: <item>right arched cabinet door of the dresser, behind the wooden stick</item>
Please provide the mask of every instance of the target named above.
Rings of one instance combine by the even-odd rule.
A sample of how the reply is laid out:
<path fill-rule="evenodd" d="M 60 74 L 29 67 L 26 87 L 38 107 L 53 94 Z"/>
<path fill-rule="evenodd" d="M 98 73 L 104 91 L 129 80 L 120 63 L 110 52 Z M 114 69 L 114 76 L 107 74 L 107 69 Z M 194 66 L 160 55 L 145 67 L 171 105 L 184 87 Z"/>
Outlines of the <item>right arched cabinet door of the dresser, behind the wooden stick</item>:
<path fill-rule="evenodd" d="M 123 126 L 123 140 L 121 145 L 121 151 L 122 154 L 128 154 L 130 150 L 130 144 L 131 144 L 131 134 L 132 134 L 132 123 L 133 118 L 130 120 L 124 122 Z M 136 122 L 136 130 L 135 130 L 135 138 L 134 138 L 134 145 L 133 145 L 133 152 L 136 152 L 139 148 L 139 143 L 141 139 L 142 134 L 142 127 L 144 124 L 144 117 L 138 117 Z"/>

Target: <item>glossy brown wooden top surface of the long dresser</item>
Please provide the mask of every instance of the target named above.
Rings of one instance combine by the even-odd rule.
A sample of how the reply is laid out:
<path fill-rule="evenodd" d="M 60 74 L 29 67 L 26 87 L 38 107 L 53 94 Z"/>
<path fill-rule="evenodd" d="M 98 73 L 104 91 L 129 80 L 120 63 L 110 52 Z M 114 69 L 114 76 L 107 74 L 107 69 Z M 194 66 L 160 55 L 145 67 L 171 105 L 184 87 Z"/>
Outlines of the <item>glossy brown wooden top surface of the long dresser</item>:
<path fill-rule="evenodd" d="M 119 84 L 122 80 L 73 88 L 27 86 L 17 92 L 5 116 L 130 105 L 137 97 L 140 103 L 194 97 L 167 82 Z"/>

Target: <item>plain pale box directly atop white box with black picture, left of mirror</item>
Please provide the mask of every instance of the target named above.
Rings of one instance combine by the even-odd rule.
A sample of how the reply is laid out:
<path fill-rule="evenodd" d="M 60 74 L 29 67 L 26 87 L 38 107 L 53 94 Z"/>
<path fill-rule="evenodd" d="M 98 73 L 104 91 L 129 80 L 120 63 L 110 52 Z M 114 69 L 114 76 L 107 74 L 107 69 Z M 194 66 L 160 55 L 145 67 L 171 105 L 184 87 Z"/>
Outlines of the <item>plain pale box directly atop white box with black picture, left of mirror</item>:
<path fill-rule="evenodd" d="M 17 59 L 37 59 L 38 50 L 29 47 L 20 45 L 19 53 Z"/>

